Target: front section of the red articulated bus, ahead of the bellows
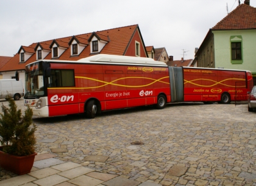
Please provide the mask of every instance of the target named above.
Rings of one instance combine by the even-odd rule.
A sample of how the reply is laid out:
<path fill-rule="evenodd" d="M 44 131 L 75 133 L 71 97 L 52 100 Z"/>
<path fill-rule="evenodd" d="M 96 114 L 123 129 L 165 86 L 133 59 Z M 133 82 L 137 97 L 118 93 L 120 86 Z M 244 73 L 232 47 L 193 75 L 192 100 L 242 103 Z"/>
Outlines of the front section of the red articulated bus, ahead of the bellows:
<path fill-rule="evenodd" d="M 78 61 L 41 60 L 26 66 L 24 105 L 43 117 L 171 102 L 165 63 L 151 58 L 94 55 Z"/>

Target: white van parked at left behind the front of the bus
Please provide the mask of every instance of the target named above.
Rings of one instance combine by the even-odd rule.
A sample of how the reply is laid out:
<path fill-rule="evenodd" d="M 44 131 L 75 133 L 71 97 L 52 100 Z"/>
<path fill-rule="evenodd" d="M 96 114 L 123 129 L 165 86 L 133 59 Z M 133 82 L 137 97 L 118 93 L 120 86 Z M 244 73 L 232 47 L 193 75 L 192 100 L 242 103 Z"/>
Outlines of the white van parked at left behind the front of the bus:
<path fill-rule="evenodd" d="M 7 94 L 14 100 L 20 100 L 24 96 L 23 82 L 15 79 L 0 80 L 0 99 L 5 99 Z"/>

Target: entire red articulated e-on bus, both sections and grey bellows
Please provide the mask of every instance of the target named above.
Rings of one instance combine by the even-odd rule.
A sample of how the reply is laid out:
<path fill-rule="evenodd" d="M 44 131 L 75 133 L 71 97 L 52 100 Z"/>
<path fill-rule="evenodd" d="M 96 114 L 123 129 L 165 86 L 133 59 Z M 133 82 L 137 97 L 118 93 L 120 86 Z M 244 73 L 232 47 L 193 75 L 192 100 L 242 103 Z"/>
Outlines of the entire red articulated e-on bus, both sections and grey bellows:
<path fill-rule="evenodd" d="M 51 117 L 171 102 L 230 103 L 247 99 L 251 72 L 168 67 L 151 58 L 94 55 L 78 61 L 40 60 L 26 66 L 24 105 Z M 244 85 L 235 88 L 235 82 Z"/>

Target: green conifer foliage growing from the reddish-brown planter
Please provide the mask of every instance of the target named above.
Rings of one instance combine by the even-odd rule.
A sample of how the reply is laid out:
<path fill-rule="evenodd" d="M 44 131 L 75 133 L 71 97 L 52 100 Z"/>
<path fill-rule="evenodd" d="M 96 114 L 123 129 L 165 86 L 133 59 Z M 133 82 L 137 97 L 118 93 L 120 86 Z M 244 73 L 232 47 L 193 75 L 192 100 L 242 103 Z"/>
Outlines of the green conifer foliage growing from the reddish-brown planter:
<path fill-rule="evenodd" d="M 9 108 L 2 104 L 0 119 L 0 142 L 2 151 L 15 156 L 26 156 L 35 153 L 35 130 L 32 123 L 33 111 L 27 107 L 25 115 L 17 110 L 15 101 L 7 95 Z"/>

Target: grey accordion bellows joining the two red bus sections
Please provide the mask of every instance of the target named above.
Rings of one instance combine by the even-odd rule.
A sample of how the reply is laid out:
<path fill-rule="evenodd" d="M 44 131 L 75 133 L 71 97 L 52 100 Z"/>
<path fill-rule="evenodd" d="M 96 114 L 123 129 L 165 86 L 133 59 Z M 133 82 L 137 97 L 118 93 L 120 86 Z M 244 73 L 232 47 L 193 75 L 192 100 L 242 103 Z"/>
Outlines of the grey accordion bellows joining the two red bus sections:
<path fill-rule="evenodd" d="M 183 102 L 183 71 L 182 67 L 168 66 L 171 84 L 171 102 Z"/>

